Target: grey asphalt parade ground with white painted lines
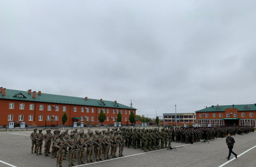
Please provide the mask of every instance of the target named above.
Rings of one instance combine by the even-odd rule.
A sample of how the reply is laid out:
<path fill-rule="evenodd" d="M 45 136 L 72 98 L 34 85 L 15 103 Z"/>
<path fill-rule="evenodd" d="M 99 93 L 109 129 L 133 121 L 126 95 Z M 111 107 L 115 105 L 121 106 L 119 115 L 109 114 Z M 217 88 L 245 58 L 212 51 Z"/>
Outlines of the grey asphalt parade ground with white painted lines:
<path fill-rule="evenodd" d="M 45 131 L 43 131 L 45 133 Z M 45 157 L 44 155 L 36 156 L 31 154 L 31 131 L 9 131 L 0 132 L 0 166 L 56 166 L 56 158 Z M 238 159 L 231 155 L 227 163 L 229 150 L 225 144 L 225 138 L 210 141 L 210 143 L 195 143 L 184 145 L 181 143 L 172 143 L 172 146 L 184 145 L 182 148 L 174 150 L 157 150 L 144 153 L 140 149 L 124 150 L 124 157 L 115 158 L 97 163 L 77 165 L 77 166 L 221 166 L 225 167 L 255 167 L 256 160 L 256 132 L 248 135 L 236 135 L 233 151 L 239 155 Z M 246 150 L 252 150 L 244 153 Z M 42 154 L 44 154 L 44 148 Z M 118 153 L 118 150 L 117 150 Z M 243 154 L 244 153 L 244 154 Z M 243 155 L 241 155 L 243 154 Z M 67 157 L 68 159 L 68 157 Z M 2 161 L 2 162 L 1 162 Z M 95 161 L 95 158 L 94 158 Z M 10 165 L 4 164 L 8 163 Z M 75 159 L 75 164 L 78 164 Z M 63 167 L 68 166 L 68 160 L 63 161 Z"/>

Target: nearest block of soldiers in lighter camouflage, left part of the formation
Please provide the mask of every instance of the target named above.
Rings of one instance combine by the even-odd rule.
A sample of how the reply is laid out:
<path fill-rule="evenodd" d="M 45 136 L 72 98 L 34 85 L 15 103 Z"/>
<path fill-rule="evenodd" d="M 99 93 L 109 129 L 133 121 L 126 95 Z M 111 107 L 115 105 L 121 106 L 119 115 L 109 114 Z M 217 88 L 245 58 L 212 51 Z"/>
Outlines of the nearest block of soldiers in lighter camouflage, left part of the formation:
<path fill-rule="evenodd" d="M 44 154 L 51 158 L 57 158 L 56 166 L 62 166 L 63 160 L 65 160 L 65 154 L 69 154 L 69 166 L 75 166 L 74 159 L 78 153 L 78 165 L 84 163 L 85 151 L 87 151 L 87 163 L 93 163 L 93 153 L 95 153 L 96 161 L 107 160 L 111 158 L 117 158 L 117 148 L 119 148 L 119 156 L 124 156 L 124 136 L 122 131 L 118 129 L 103 130 L 95 132 L 88 129 L 88 132 L 77 129 L 71 131 L 68 130 L 60 132 L 54 130 L 54 134 L 51 134 L 51 130 L 46 130 L 46 134 L 42 134 L 42 129 L 34 129 L 31 133 L 30 139 L 32 140 L 31 153 L 36 155 L 42 155 L 42 143 L 44 141 Z M 52 144 L 52 145 L 51 145 Z M 51 153 L 50 153 L 51 146 Z M 35 150 L 34 150 L 35 147 Z M 101 155 L 104 155 L 102 158 Z"/>

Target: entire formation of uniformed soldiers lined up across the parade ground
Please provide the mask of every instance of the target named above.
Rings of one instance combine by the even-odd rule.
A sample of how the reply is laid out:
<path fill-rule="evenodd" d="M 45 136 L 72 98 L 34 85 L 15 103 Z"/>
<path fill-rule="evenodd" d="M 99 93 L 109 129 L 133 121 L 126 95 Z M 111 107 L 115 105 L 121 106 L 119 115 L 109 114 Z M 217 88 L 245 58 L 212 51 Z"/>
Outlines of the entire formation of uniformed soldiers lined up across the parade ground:
<path fill-rule="evenodd" d="M 144 152 L 168 148 L 172 142 L 193 144 L 201 140 L 213 140 L 217 137 L 225 137 L 227 134 L 241 135 L 254 131 L 252 126 L 231 126 L 231 127 L 163 127 L 162 129 L 137 129 L 135 128 L 108 128 L 107 130 L 94 132 L 89 130 L 84 132 L 77 129 L 70 131 L 46 130 L 42 134 L 42 129 L 34 129 L 31 133 L 32 140 L 31 153 L 42 155 L 42 144 L 44 143 L 44 155 L 56 158 L 56 166 L 63 166 L 63 160 L 66 160 L 68 154 L 69 166 L 75 166 L 75 158 L 78 159 L 78 165 L 93 163 L 93 154 L 96 161 L 107 160 L 124 156 L 124 147 L 141 149 Z M 50 151 L 51 148 L 51 151 Z M 118 154 L 117 154 L 118 148 Z M 85 156 L 87 154 L 87 156 Z"/>

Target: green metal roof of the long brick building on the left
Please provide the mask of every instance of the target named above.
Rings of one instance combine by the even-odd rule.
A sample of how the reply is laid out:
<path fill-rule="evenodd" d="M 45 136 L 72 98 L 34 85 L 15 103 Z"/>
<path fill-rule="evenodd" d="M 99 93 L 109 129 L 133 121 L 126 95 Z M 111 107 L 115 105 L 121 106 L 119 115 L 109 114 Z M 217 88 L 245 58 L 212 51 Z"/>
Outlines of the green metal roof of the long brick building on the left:
<path fill-rule="evenodd" d="M 13 97 L 14 95 L 17 95 L 19 93 L 26 96 L 26 98 Z M 51 95 L 51 94 L 43 94 L 43 93 L 41 93 L 41 95 L 38 95 L 36 93 L 36 99 L 34 99 L 32 95 L 33 95 L 33 92 L 31 92 L 31 95 L 30 95 L 28 91 L 6 89 L 6 96 L 3 96 L 2 94 L 0 94 L 0 99 L 12 99 L 12 100 L 34 101 L 34 102 L 50 102 L 50 103 L 58 103 L 58 104 L 84 105 L 84 106 L 96 106 L 96 107 L 112 107 L 117 109 L 136 110 L 135 108 L 125 106 L 119 103 L 117 103 L 118 106 L 115 106 L 116 103 L 113 101 L 103 100 L 102 102 L 105 105 L 100 105 L 101 101 L 96 99 L 85 100 L 82 97 Z"/>

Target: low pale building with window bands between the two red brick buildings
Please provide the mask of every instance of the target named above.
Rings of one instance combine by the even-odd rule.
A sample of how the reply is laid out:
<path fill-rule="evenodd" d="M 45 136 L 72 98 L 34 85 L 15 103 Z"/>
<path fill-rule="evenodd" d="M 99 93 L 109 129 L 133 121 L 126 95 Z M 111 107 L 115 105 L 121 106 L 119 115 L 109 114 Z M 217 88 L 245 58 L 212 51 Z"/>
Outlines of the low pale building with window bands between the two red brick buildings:
<path fill-rule="evenodd" d="M 163 114 L 164 116 L 164 126 L 172 125 L 176 126 L 176 119 L 177 119 L 177 126 L 183 126 L 184 124 L 195 124 L 196 123 L 196 113 L 179 113 L 179 114 Z M 177 117 L 176 117 L 177 116 Z"/>

